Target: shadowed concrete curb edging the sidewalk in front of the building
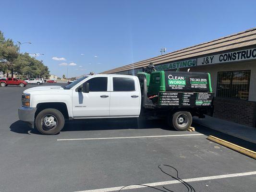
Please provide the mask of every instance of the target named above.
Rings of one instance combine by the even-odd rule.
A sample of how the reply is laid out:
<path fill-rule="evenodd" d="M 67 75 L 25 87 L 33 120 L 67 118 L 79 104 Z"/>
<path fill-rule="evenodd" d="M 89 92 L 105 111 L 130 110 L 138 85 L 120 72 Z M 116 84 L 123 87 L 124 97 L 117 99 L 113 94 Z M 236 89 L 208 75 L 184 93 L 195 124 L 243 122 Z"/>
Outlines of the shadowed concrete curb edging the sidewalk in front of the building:
<path fill-rule="evenodd" d="M 228 134 L 228 135 L 231 135 L 231 136 L 233 136 L 233 137 L 237 137 L 237 138 L 239 138 L 239 139 L 243 139 L 244 141 L 248 141 L 248 142 L 251 142 L 251 143 L 256 144 L 256 140 L 250 139 L 250 138 L 248 138 L 248 137 L 246 137 L 246 136 L 243 136 L 243 135 L 240 135 L 240 134 L 237 134 L 237 133 L 234 133 L 234 132 L 227 131 L 227 130 L 222 129 L 222 128 L 218 128 L 218 127 L 216 127 L 216 126 L 213 126 L 211 123 L 210 123 L 210 124 L 207 123 L 206 121 L 193 118 L 193 122 L 196 123 L 196 124 L 202 125 L 202 126 L 204 126 L 204 127 L 213 129 L 213 130 L 215 130 L 215 131 L 223 132 L 223 133 Z"/>

